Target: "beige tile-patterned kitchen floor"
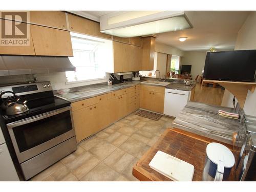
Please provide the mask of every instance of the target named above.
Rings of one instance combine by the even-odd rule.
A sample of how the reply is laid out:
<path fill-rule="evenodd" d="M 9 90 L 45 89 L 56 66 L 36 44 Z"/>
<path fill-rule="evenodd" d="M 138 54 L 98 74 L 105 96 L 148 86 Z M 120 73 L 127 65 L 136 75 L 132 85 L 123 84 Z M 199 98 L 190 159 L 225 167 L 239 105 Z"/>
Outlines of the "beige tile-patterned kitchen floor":
<path fill-rule="evenodd" d="M 82 141 L 75 152 L 31 181 L 138 181 L 133 165 L 174 119 L 154 121 L 135 113 Z"/>

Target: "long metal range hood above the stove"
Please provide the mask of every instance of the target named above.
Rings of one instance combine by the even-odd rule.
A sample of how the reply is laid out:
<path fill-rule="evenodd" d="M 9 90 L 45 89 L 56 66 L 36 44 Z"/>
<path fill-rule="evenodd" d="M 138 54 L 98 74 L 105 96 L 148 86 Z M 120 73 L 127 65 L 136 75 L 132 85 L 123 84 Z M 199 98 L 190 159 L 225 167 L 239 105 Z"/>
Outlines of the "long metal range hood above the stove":
<path fill-rule="evenodd" d="M 69 57 L 0 55 L 0 76 L 75 71 Z"/>

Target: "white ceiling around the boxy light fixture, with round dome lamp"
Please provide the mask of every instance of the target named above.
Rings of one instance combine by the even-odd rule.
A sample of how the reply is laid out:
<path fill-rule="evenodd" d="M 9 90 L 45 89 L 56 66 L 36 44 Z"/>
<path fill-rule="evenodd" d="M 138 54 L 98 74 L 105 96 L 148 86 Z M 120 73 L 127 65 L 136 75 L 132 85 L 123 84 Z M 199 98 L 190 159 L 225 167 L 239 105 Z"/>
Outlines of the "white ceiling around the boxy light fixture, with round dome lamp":
<path fill-rule="evenodd" d="M 99 22 L 99 17 L 114 11 L 76 11 Z M 188 11 L 187 16 L 192 29 L 157 34 L 157 42 L 172 46 L 183 51 L 234 49 L 237 34 L 242 27 L 249 11 Z M 188 37 L 180 42 L 179 37 Z"/>

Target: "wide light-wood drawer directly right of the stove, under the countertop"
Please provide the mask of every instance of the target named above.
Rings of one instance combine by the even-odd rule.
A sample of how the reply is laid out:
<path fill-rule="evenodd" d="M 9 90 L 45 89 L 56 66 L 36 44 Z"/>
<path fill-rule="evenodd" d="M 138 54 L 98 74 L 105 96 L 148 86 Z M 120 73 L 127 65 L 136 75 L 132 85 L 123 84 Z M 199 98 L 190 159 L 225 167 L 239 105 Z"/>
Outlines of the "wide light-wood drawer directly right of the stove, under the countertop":
<path fill-rule="evenodd" d="M 81 100 L 81 101 L 73 102 L 71 104 L 72 111 L 76 111 L 76 110 L 79 110 L 79 109 L 82 109 L 82 108 L 86 108 L 87 106 L 97 104 L 97 103 L 105 100 L 105 97 L 106 97 L 105 95 L 100 95 L 100 96 L 97 96 L 97 97 L 92 97 L 92 98 L 89 98 L 89 99 L 84 99 L 84 100 Z"/>

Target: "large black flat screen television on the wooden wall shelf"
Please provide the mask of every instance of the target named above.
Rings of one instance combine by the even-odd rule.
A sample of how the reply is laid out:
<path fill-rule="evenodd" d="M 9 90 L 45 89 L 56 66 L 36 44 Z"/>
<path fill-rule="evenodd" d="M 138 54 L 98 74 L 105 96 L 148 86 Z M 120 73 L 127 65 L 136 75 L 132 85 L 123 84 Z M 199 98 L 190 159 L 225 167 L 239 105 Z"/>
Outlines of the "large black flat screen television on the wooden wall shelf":
<path fill-rule="evenodd" d="M 254 81 L 256 50 L 207 52 L 204 78 L 214 80 Z"/>

